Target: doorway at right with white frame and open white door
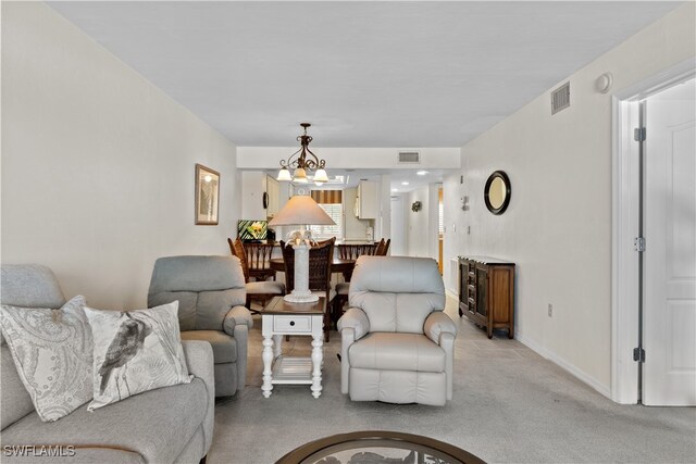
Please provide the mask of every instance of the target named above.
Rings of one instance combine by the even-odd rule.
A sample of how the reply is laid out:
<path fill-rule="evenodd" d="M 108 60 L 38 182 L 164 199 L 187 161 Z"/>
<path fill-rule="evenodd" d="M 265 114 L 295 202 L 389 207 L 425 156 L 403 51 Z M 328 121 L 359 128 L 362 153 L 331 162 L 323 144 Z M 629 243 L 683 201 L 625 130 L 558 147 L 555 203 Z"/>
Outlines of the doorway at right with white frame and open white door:
<path fill-rule="evenodd" d="M 612 385 L 620 403 L 696 404 L 694 60 L 614 97 Z"/>

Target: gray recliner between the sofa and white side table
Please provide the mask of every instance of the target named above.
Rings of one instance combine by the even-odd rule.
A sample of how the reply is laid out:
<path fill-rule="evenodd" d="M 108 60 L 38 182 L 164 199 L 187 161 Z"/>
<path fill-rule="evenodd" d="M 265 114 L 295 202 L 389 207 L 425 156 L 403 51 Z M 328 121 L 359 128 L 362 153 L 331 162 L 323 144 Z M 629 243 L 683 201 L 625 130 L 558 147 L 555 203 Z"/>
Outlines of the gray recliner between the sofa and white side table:
<path fill-rule="evenodd" d="M 236 256 L 166 256 L 154 262 L 148 306 L 178 300 L 182 340 L 213 347 L 215 397 L 241 390 L 247 376 L 251 313 L 241 264 Z"/>

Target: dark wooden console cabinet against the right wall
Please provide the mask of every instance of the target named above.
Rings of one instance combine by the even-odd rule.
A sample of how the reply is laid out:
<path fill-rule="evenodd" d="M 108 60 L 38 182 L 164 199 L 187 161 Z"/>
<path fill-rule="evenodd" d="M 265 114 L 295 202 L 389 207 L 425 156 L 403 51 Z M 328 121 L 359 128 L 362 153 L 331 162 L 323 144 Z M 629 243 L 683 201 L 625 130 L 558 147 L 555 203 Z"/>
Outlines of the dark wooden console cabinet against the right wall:
<path fill-rule="evenodd" d="M 459 258 L 459 315 L 514 337 L 514 263 L 488 256 Z"/>

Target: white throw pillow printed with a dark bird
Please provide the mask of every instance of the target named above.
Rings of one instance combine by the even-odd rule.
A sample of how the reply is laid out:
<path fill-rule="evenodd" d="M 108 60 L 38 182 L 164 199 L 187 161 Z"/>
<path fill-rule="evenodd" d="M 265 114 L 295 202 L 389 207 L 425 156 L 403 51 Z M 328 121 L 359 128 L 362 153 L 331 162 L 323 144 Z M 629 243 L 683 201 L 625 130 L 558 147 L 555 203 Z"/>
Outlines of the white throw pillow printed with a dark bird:
<path fill-rule="evenodd" d="M 95 340 L 95 399 L 88 411 L 144 391 L 191 381 L 177 311 L 178 301 L 128 312 L 85 308 Z"/>

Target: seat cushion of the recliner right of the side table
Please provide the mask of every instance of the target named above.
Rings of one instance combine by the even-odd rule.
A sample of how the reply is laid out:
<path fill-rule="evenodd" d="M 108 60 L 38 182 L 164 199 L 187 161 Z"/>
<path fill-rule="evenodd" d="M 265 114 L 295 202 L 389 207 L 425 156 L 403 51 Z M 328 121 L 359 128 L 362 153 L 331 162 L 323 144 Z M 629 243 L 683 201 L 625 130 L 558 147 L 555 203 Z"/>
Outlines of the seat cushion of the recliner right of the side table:
<path fill-rule="evenodd" d="M 444 372 L 445 350 L 419 334 L 371 333 L 348 350 L 351 367 Z"/>

